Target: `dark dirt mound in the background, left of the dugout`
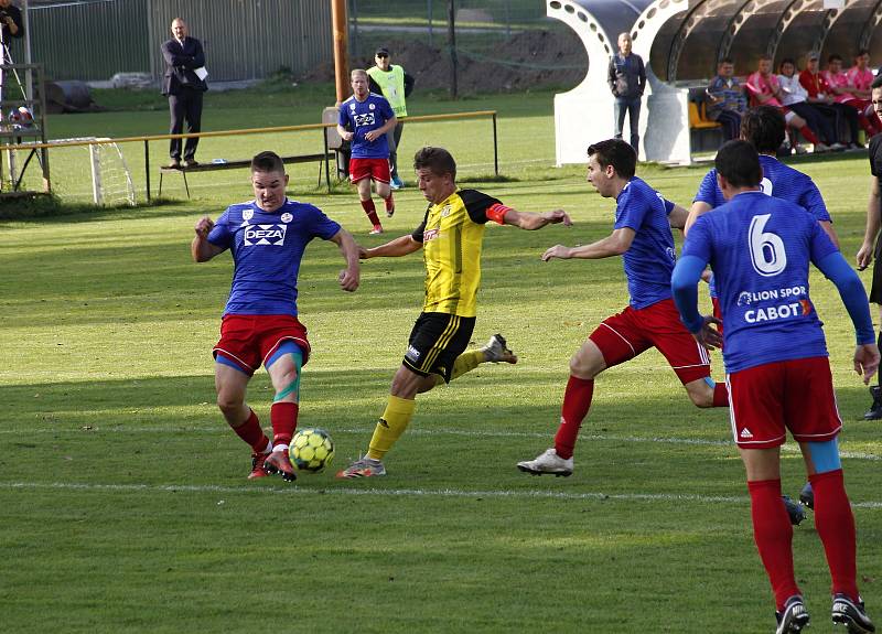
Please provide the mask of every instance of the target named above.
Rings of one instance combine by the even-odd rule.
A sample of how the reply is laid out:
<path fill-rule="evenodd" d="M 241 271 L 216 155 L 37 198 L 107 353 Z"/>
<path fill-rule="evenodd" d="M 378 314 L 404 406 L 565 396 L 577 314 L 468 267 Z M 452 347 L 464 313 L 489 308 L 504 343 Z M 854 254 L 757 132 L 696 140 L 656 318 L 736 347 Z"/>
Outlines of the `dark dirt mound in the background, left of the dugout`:
<path fill-rule="evenodd" d="M 416 89 L 447 89 L 451 60 L 445 49 L 413 40 L 388 40 L 392 63 L 400 64 L 416 79 Z M 373 47 L 370 49 L 373 52 Z M 525 31 L 502 41 L 490 51 L 458 52 L 458 85 L 462 95 L 523 92 L 544 87 L 572 87 L 588 72 L 588 55 L 581 40 L 570 30 Z M 351 60 L 353 67 L 369 67 L 373 56 Z M 313 68 L 300 82 L 333 82 L 333 63 Z"/>

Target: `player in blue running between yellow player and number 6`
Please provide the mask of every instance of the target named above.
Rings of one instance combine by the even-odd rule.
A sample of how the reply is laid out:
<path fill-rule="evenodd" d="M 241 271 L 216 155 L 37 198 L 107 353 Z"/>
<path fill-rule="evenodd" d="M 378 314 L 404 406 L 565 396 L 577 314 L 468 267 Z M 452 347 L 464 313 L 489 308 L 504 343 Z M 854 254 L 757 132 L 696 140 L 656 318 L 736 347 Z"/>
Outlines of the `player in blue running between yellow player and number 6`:
<path fill-rule="evenodd" d="M 655 347 L 698 407 L 725 407 L 725 386 L 710 379 L 710 361 L 680 323 L 670 297 L 675 250 L 671 226 L 682 227 L 686 209 L 676 207 L 634 175 L 637 154 L 622 139 L 588 149 L 588 180 L 601 196 L 615 198 L 615 224 L 607 237 L 579 247 L 556 245 L 542 260 L 622 256 L 630 305 L 603 320 L 570 359 L 555 447 L 517 468 L 535 475 L 571 475 L 573 450 L 594 394 L 594 378 Z"/>

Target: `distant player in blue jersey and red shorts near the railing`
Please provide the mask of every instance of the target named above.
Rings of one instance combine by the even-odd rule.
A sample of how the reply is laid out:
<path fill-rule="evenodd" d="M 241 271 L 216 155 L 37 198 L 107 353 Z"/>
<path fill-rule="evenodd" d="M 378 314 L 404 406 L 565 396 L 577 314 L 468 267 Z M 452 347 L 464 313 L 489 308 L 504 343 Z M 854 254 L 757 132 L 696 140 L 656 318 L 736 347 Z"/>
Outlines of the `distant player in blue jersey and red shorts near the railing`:
<path fill-rule="evenodd" d="M 368 82 L 367 71 L 352 72 L 352 97 L 340 105 L 337 132 L 352 143 L 349 180 L 358 187 L 362 208 L 374 225 L 370 233 L 381 234 L 383 225 L 370 197 L 370 181 L 376 183 L 377 195 L 386 204 L 386 215 L 391 217 L 395 214 L 395 200 L 389 186 L 391 173 L 386 132 L 395 129 L 398 119 L 389 101 L 368 89 Z"/>

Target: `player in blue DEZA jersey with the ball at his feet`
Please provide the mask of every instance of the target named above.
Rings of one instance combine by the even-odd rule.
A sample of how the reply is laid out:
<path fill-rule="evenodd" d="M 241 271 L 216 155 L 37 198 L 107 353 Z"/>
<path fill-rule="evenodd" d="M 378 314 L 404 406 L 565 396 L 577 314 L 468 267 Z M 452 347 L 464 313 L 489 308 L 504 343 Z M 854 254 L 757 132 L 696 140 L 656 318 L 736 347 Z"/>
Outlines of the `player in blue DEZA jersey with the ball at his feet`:
<path fill-rule="evenodd" d="M 214 347 L 217 405 L 229 427 L 251 447 L 251 473 L 280 473 L 294 480 L 288 445 L 297 428 L 300 370 L 310 354 L 306 329 L 298 320 L 297 277 L 313 238 L 335 243 L 346 260 L 340 273 L 344 291 L 358 288 L 358 246 L 321 209 L 289 201 L 281 159 L 261 152 L 251 160 L 255 200 L 232 205 L 217 222 L 196 223 L 193 259 L 204 262 L 229 250 L 235 269 L 220 341 Z M 254 373 L 267 368 L 276 396 L 270 408 L 272 441 L 245 402 Z"/>

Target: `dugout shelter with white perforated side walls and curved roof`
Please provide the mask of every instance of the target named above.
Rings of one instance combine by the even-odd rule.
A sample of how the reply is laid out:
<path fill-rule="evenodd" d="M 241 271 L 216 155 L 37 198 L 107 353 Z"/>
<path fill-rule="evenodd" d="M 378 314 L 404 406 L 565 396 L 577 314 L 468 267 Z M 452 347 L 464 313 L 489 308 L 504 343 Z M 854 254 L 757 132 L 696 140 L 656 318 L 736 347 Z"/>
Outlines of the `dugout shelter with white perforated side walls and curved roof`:
<path fill-rule="evenodd" d="M 690 163 L 689 100 L 707 86 L 717 61 L 732 57 L 735 74 L 756 69 L 763 54 L 809 52 L 821 65 L 837 53 L 850 65 L 860 49 L 872 66 L 882 62 L 882 0 L 546 0 L 548 17 L 569 25 L 588 53 L 588 72 L 572 90 L 555 96 L 556 159 L 584 163 L 591 142 L 613 136 L 613 97 L 606 84 L 619 33 L 646 63 L 641 109 L 641 159 Z"/>

